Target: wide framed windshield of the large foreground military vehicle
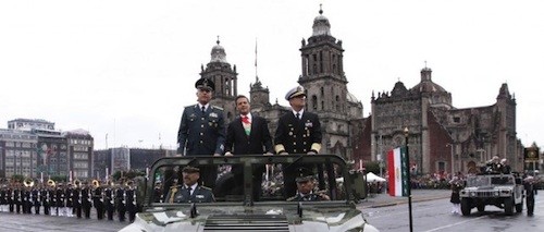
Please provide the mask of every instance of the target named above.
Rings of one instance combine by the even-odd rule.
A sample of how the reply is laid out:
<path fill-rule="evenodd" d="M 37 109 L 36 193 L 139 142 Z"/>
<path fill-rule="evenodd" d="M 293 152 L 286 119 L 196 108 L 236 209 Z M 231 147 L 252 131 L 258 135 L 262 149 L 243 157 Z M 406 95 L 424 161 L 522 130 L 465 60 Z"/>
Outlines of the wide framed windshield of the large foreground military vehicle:
<path fill-rule="evenodd" d="M 169 157 L 153 164 L 147 185 L 154 187 L 147 187 L 146 205 L 172 207 L 195 203 L 183 200 L 180 194 L 175 195 L 183 188 L 183 172 L 186 167 L 200 170 L 198 183 L 213 193 L 215 205 L 297 202 L 294 197 L 298 192 L 299 181 L 312 183 L 311 193 L 318 200 L 310 202 L 353 199 L 343 184 L 344 181 L 353 181 L 349 179 L 348 167 L 337 156 Z M 217 175 L 213 172 L 215 170 Z M 206 198 L 205 195 L 197 195 L 193 200 L 210 204 L 199 202 L 199 198 Z"/>

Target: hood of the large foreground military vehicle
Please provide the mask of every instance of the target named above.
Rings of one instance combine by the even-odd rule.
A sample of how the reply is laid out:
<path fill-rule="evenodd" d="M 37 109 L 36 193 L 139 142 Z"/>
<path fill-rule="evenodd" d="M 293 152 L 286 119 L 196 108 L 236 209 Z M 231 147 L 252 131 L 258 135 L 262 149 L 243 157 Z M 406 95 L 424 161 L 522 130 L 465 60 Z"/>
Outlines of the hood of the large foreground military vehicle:
<path fill-rule="evenodd" d="M 348 204 L 319 203 L 262 206 L 190 206 L 152 208 L 139 212 L 133 224 L 121 231 L 378 231 L 369 225 L 360 210 Z M 301 217 L 299 212 L 301 211 Z"/>

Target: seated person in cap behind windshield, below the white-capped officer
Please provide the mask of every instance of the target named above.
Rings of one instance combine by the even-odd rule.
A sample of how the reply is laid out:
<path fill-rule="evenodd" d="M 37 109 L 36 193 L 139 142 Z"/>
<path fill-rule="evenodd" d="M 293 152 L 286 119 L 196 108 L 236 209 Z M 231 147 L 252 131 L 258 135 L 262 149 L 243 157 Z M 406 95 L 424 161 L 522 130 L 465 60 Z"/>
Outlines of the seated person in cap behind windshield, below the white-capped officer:
<path fill-rule="evenodd" d="M 287 198 L 288 202 L 321 202 L 331 200 L 325 191 L 316 191 L 316 179 L 313 173 L 306 168 L 298 169 L 297 194 Z"/>

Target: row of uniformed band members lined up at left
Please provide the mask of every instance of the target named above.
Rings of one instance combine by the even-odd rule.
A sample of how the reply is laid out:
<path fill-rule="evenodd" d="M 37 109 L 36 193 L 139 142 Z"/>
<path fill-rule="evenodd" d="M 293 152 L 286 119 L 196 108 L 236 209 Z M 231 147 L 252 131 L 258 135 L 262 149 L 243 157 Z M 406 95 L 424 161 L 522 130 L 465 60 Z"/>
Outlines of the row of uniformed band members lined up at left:
<path fill-rule="evenodd" d="M 0 212 L 46 215 L 119 221 L 135 220 L 138 210 L 138 191 L 133 181 L 121 181 L 100 184 L 99 181 L 73 183 L 34 184 L 4 183 L 0 187 Z M 92 210 L 94 208 L 94 210 Z M 91 215 L 91 210 L 95 212 Z"/>

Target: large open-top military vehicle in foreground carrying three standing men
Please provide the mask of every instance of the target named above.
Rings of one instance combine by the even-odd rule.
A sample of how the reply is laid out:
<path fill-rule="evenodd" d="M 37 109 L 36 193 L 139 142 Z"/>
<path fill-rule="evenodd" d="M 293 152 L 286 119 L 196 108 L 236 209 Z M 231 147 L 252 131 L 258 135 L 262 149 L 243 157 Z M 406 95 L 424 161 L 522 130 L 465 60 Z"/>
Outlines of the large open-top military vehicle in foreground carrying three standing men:
<path fill-rule="evenodd" d="M 169 183 L 180 179 L 175 173 L 187 166 L 218 168 L 212 188 L 215 202 L 172 203 L 157 196 L 157 182 L 170 190 Z M 140 183 L 140 190 L 146 190 L 141 212 L 121 231 L 375 232 L 356 208 L 366 196 L 366 183 L 362 173 L 350 166 L 334 155 L 162 158 L 152 166 L 150 178 Z M 287 200 L 293 197 L 287 196 L 285 185 L 297 187 L 295 181 L 286 182 L 283 176 L 296 167 L 312 170 L 314 193 L 325 194 L 330 200 Z M 342 182 L 339 178 L 344 178 Z"/>

